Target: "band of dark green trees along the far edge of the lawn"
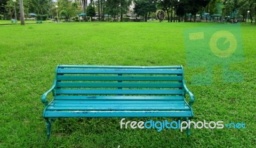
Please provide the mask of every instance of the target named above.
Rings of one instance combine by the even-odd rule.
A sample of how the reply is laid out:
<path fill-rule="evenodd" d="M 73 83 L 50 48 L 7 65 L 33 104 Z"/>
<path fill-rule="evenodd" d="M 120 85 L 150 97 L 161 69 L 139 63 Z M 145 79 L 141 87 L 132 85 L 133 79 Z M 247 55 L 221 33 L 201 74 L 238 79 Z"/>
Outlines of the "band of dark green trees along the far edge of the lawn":
<path fill-rule="evenodd" d="M 23 1 L 25 17 L 29 17 L 29 13 L 36 13 L 53 18 L 58 10 L 60 18 L 70 19 L 81 12 L 87 12 L 88 8 L 90 11 L 94 10 L 95 14 L 98 13 L 99 20 L 100 18 L 104 20 L 104 16 L 108 15 L 114 19 L 120 18 L 122 21 L 123 15 L 133 11 L 137 17 L 145 18 L 147 21 L 148 15 L 155 13 L 156 10 L 164 10 L 168 16 L 168 22 L 172 22 L 174 18 L 181 20 L 185 17 L 186 20 L 188 14 L 195 17 L 202 13 L 220 14 L 222 17 L 232 18 L 242 16 L 243 20 L 248 17 L 251 22 L 253 17 L 256 17 L 255 0 L 58 0 L 58 2 L 53 0 L 17 0 L 17 16 L 20 16 L 19 1 Z M 56 5 L 58 8 L 55 8 Z M 0 16 L 0 19 L 14 17 L 12 0 L 0 0 Z"/>

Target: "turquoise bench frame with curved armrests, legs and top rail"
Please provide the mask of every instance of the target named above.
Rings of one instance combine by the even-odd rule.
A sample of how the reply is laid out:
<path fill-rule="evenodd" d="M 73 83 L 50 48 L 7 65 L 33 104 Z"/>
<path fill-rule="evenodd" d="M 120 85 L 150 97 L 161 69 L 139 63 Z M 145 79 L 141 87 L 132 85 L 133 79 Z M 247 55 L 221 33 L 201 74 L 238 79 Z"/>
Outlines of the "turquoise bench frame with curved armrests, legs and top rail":
<path fill-rule="evenodd" d="M 49 140 L 49 138 L 50 138 L 50 133 L 51 133 L 51 124 L 52 124 L 52 121 L 54 121 L 55 119 L 56 119 L 56 117 L 45 117 L 44 115 L 45 115 L 45 110 L 47 109 L 47 107 L 49 107 L 49 105 L 52 103 L 52 101 L 54 101 L 54 97 L 56 96 L 56 89 L 57 89 L 57 87 L 56 87 L 56 85 L 57 85 L 57 70 L 58 70 L 58 68 L 59 68 L 59 66 L 61 66 L 61 65 L 58 65 L 57 66 L 57 68 L 56 68 L 56 78 L 55 78 L 55 80 L 54 80 L 54 84 L 52 85 L 52 87 L 51 87 L 51 89 L 49 89 L 49 91 L 47 91 L 47 92 L 45 92 L 43 95 L 42 95 L 42 98 L 41 98 L 41 101 L 42 101 L 42 103 L 44 103 L 44 105 L 45 105 L 45 108 L 44 108 L 44 112 L 43 112 L 43 117 L 44 117 L 44 119 L 45 119 L 45 121 L 46 121 L 46 126 L 47 126 L 47 139 Z M 65 66 L 65 65 L 63 65 L 63 66 Z M 68 65 L 68 66 L 70 66 L 70 65 Z M 76 65 L 73 65 L 74 67 L 79 67 L 79 66 L 76 66 Z M 72 66 L 70 66 L 70 67 L 72 67 Z M 81 66 L 80 66 L 81 67 Z M 102 68 L 102 67 L 106 67 L 106 68 L 116 68 L 116 69 L 119 69 L 119 68 L 127 68 L 127 67 L 129 67 L 129 68 L 164 68 L 164 67 L 167 67 L 167 66 L 147 66 L 147 67 L 141 67 L 141 66 L 86 66 L 86 67 L 92 67 L 92 68 Z M 168 67 L 170 67 L 170 66 L 168 66 Z M 173 66 L 173 67 L 175 67 L 175 66 Z M 194 101 L 195 101 L 195 98 L 194 98 L 194 95 L 191 93 L 191 91 L 189 91 L 189 89 L 186 87 L 186 83 L 185 83 L 185 81 L 184 81 L 184 71 L 183 71 L 183 68 L 182 68 L 182 66 L 180 66 L 181 67 L 181 70 L 182 70 L 182 96 L 184 96 L 184 101 L 185 101 L 185 103 L 188 105 L 188 107 L 191 109 L 191 117 L 186 117 L 186 116 L 183 116 L 183 117 L 179 117 L 179 116 L 173 116 L 172 115 L 172 117 L 178 117 L 179 119 L 183 119 L 183 121 L 188 121 L 188 120 L 191 120 L 192 118 L 193 118 L 193 110 L 192 110 L 192 108 L 191 108 L 191 105 L 194 103 Z M 49 103 L 49 101 L 47 101 L 47 95 L 49 94 L 49 93 L 52 93 L 52 96 L 53 96 L 53 98 L 52 98 L 52 101 Z M 189 103 L 187 103 L 186 102 L 186 94 L 188 94 L 189 95 L 189 98 L 190 98 L 190 100 L 189 100 Z M 109 111 L 109 112 L 111 112 L 111 111 Z M 118 112 L 116 112 L 116 114 L 119 114 Z M 129 113 L 128 113 L 129 114 Z M 79 117 L 79 116 L 77 116 L 77 117 Z M 92 117 L 104 117 L 104 114 L 103 115 L 93 115 Z M 106 117 L 109 117 L 109 115 L 108 116 L 106 116 Z M 118 116 L 113 116 L 113 117 L 122 117 L 122 113 L 121 113 L 121 115 L 118 115 Z M 129 117 L 129 116 L 125 116 L 125 117 Z M 131 116 L 131 117 L 133 117 L 133 116 Z M 138 117 L 146 117 L 146 116 L 138 116 Z M 156 115 L 152 115 L 152 116 L 147 116 L 147 117 L 156 117 Z M 166 116 L 166 117 L 169 117 L 169 116 Z M 188 135 L 188 137 L 189 137 L 189 135 L 190 135 L 190 129 L 189 128 L 187 128 L 187 135 Z"/>

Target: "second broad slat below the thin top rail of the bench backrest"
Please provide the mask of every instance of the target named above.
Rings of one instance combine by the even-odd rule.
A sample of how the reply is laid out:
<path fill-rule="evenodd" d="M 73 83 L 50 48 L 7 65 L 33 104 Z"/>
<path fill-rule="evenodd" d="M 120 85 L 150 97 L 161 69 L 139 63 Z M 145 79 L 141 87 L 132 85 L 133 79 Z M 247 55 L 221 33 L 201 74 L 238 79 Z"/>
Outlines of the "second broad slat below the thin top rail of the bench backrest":
<path fill-rule="evenodd" d="M 57 80 L 96 80 L 96 81 L 180 81 L 182 76 L 99 76 L 99 75 L 58 75 Z"/>

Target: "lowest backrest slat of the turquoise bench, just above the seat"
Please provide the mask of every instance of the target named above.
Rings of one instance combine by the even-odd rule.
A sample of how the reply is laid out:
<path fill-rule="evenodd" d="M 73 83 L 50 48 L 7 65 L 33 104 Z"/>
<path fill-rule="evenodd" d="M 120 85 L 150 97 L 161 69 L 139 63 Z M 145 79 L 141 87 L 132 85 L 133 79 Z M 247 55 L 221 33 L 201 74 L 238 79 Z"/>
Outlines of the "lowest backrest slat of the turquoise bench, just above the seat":
<path fill-rule="evenodd" d="M 182 94 L 182 89 L 57 89 L 57 94 Z"/>

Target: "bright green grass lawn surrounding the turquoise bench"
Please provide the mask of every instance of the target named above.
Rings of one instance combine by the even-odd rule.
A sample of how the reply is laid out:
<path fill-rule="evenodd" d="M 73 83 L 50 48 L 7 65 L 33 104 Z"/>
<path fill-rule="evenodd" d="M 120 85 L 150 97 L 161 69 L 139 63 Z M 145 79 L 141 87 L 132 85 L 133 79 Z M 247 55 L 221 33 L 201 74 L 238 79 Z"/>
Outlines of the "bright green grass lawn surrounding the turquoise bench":
<path fill-rule="evenodd" d="M 0 147 L 255 147 L 256 26 L 241 26 L 245 60 L 230 66 L 243 73 L 242 83 L 222 82 L 221 66 L 214 66 L 212 85 L 191 85 L 193 73 L 204 68 L 187 66 L 183 31 L 211 25 L 81 22 L 0 26 Z M 156 129 L 120 129 L 121 118 L 58 119 L 47 141 L 40 99 L 52 86 L 57 64 L 183 65 L 188 88 L 195 95 L 193 121 L 244 122 L 246 129 L 191 129 L 188 139 L 186 132 L 177 129 L 160 133 Z"/>

